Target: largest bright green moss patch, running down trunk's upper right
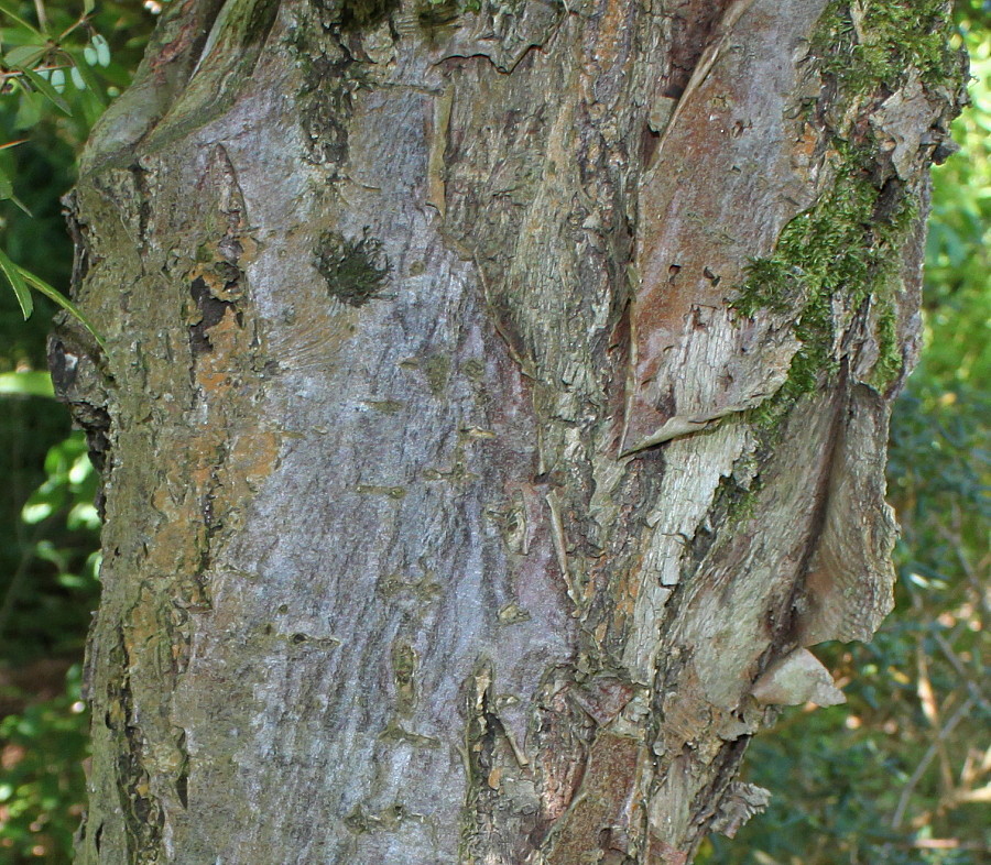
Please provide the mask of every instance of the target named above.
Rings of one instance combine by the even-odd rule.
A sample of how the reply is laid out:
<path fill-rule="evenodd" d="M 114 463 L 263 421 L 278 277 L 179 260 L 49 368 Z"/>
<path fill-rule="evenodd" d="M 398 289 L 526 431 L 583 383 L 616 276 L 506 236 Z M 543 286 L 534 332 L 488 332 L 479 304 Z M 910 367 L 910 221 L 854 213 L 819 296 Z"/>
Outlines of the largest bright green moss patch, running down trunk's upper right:
<path fill-rule="evenodd" d="M 782 231 L 773 255 L 750 262 L 736 307 L 788 314 L 802 346 L 785 384 L 774 398 L 751 412 L 760 428 L 776 428 L 805 393 L 836 372 L 834 302 L 853 311 L 869 297 L 880 307 L 881 357 L 872 384 L 879 390 L 901 374 L 893 270 L 917 216 L 914 194 L 887 177 L 869 124 L 857 122 L 858 106 L 876 105 L 917 69 L 926 84 L 952 84 L 959 62 L 949 44 L 944 0 L 868 0 L 859 6 L 832 0 L 826 8 L 812 52 L 820 73 L 835 84 L 827 101 L 808 107 L 810 120 L 836 118 L 831 188 Z M 843 118 L 839 121 L 839 118 Z M 853 118 L 853 119 L 851 119 Z M 830 122 L 826 120 L 826 122 Z M 881 179 L 879 179 L 881 178 Z"/>

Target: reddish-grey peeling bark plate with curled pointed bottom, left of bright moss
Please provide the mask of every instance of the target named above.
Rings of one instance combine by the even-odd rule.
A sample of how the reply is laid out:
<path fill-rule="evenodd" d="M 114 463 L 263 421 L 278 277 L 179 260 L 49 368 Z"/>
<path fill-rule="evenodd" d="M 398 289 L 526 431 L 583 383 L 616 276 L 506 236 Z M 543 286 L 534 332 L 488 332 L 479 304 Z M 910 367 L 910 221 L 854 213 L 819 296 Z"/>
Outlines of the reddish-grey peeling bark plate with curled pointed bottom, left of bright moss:
<path fill-rule="evenodd" d="M 797 341 L 771 320 L 737 321 L 725 296 L 815 194 L 798 151 L 820 133 L 795 119 L 796 94 L 810 75 L 801 47 L 825 4 L 731 4 L 641 180 L 625 452 L 756 405 L 787 375 Z M 710 179 L 686 188 L 700 152 Z M 721 374 L 697 372 L 714 364 Z"/>

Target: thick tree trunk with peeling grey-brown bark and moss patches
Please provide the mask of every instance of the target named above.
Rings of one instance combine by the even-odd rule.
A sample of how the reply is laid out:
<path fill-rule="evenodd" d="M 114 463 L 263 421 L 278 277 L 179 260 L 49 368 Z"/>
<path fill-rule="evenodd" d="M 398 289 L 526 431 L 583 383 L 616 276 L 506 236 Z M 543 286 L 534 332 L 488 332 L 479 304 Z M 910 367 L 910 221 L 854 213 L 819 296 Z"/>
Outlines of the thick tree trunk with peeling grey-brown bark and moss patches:
<path fill-rule="evenodd" d="M 53 340 L 78 862 L 674 865 L 760 810 L 806 647 L 891 606 L 944 7 L 174 0 L 69 199 L 109 357 Z"/>

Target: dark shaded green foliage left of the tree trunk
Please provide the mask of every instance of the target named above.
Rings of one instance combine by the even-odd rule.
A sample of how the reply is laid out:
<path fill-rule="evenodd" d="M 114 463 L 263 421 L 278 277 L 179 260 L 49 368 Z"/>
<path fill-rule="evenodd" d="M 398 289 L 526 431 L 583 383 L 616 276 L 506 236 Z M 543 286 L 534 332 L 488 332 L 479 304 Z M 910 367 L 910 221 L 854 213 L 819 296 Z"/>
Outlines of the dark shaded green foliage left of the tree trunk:
<path fill-rule="evenodd" d="M 72 245 L 59 197 L 104 103 L 127 86 L 154 19 L 140 0 L 0 0 L 0 173 L 13 200 L 0 200 L 0 249 L 66 291 Z M 12 13 L 12 14 L 11 14 Z M 47 24 L 40 40 L 29 26 Z M 68 31 L 68 32 L 67 32 Z M 106 37 L 108 66 L 90 64 L 92 36 Z M 41 43 L 41 44 L 40 44 Z M 6 74 L 26 46 L 45 48 L 36 68 L 61 66 L 67 114 Z M 73 83 L 69 64 L 88 86 Z M 51 78 L 51 73 L 50 73 Z M 0 196 L 2 198 L 3 196 Z M 68 863 L 83 812 L 88 713 L 79 698 L 80 659 L 96 607 L 97 479 L 80 432 L 51 396 L 45 340 L 56 307 L 34 296 L 26 322 L 0 286 L 0 862 Z"/>

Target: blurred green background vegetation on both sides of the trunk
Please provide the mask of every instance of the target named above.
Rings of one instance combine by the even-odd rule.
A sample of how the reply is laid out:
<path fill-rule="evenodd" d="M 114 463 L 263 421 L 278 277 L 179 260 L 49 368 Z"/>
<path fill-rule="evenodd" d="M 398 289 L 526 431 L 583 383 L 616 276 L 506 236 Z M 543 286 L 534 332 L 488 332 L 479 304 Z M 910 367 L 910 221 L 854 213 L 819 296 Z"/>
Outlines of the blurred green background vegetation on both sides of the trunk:
<path fill-rule="evenodd" d="M 0 149 L 0 250 L 52 285 L 65 288 L 72 269 L 58 198 L 160 10 L 0 0 L 0 145 L 23 140 Z M 707 843 L 709 865 L 991 856 L 991 2 L 956 11 L 972 106 L 955 127 L 961 152 L 934 173 L 926 348 L 892 423 L 897 609 L 871 645 L 827 648 L 846 705 L 784 713 L 753 742 L 748 780 L 772 789 L 772 804 L 732 842 Z M 14 66 L 26 62 L 62 107 L 25 84 Z M 55 307 L 35 303 L 25 324 L 0 291 L 0 862 L 66 865 L 85 788 L 79 668 L 99 594 L 97 479 L 44 373 Z"/>

